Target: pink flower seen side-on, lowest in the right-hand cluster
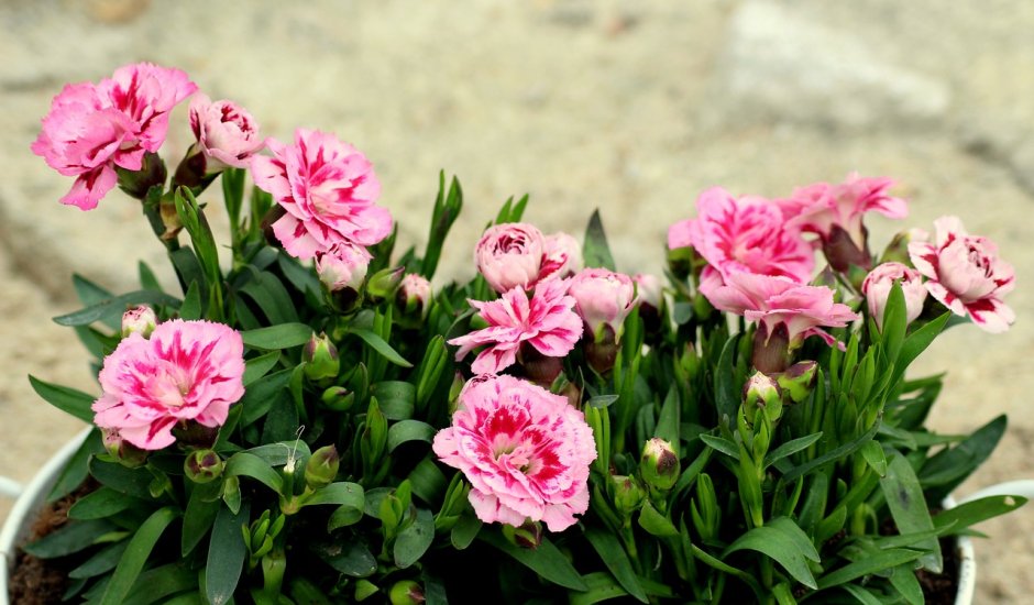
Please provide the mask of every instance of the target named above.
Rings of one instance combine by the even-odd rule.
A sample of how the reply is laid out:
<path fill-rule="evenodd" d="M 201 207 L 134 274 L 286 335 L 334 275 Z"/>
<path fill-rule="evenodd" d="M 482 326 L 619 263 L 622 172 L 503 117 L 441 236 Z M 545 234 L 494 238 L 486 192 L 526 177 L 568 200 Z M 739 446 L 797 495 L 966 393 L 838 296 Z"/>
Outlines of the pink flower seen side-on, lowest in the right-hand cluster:
<path fill-rule="evenodd" d="M 719 310 L 760 322 L 769 336 L 784 327 L 789 346 L 795 349 L 813 336 L 833 345 L 836 339 L 822 327 L 843 328 L 860 317 L 847 305 L 834 302 L 833 294 L 825 286 L 806 286 L 788 277 L 734 273 L 706 296 Z"/>

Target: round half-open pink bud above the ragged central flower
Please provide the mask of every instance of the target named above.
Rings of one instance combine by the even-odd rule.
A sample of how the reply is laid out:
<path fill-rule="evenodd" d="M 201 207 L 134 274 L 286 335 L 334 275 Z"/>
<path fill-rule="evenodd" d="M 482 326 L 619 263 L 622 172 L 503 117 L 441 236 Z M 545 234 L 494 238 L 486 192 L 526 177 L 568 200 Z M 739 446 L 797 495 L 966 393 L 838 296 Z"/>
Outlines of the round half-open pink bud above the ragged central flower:
<path fill-rule="evenodd" d="M 539 278 L 546 237 L 534 224 L 507 222 L 485 230 L 474 246 L 474 264 L 492 289 L 502 294 L 530 288 Z"/>

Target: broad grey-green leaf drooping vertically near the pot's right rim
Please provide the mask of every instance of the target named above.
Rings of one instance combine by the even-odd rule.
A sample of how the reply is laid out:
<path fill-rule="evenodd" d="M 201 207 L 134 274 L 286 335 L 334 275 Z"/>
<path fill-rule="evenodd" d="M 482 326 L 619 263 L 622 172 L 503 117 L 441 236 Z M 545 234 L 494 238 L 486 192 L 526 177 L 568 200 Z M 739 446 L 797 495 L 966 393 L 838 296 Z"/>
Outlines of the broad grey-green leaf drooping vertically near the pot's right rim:
<path fill-rule="evenodd" d="M 934 521 L 931 520 L 930 510 L 926 508 L 923 488 L 904 455 L 894 452 L 887 465 L 887 474 L 880 479 L 880 487 L 883 490 L 887 506 L 898 525 L 899 532 L 913 534 L 934 528 Z M 923 566 L 934 573 L 941 573 L 944 561 L 937 540 L 931 538 L 916 546 L 930 551 L 922 558 Z"/>

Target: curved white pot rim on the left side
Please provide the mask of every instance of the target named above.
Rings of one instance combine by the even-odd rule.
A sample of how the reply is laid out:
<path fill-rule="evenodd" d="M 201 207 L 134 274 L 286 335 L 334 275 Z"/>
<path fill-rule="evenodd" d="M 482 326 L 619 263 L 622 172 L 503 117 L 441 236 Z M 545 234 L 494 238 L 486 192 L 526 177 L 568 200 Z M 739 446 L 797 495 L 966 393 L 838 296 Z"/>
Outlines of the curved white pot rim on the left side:
<path fill-rule="evenodd" d="M 62 449 L 46 461 L 46 464 L 32 477 L 29 485 L 14 501 L 14 506 L 0 529 L 0 554 L 3 556 L 3 565 L 0 565 L 0 605 L 10 605 L 8 597 L 8 575 L 14 564 L 14 553 L 18 544 L 25 538 L 31 519 L 46 499 L 47 493 L 57 481 L 57 475 L 68 460 L 76 453 L 79 446 L 86 441 L 92 427 L 82 429 L 77 436 L 65 443 Z"/>

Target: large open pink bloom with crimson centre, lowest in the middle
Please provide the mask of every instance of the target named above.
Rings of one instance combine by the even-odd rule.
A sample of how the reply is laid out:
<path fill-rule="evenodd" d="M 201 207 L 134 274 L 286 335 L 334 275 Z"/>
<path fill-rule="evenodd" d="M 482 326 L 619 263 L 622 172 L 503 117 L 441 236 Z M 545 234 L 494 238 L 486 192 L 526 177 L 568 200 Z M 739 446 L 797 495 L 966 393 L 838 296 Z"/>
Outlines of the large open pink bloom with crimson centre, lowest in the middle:
<path fill-rule="evenodd" d="M 468 383 L 433 449 L 471 482 L 471 505 L 485 522 L 531 519 L 563 531 L 588 508 L 592 429 L 566 397 L 531 383 L 513 376 Z"/>

